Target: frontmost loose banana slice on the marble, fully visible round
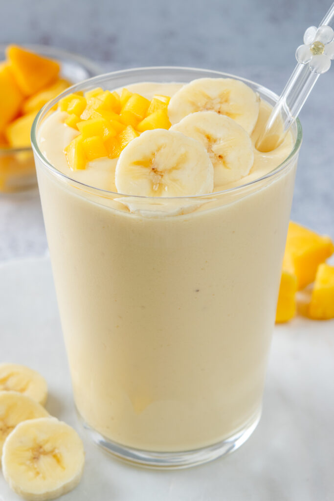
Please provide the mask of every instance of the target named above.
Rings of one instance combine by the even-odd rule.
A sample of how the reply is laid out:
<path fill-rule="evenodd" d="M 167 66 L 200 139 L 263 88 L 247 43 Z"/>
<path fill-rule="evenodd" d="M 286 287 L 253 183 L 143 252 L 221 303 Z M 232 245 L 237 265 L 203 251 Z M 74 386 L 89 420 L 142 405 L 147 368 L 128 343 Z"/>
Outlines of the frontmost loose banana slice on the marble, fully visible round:
<path fill-rule="evenodd" d="M 4 445 L 4 477 L 15 492 L 31 501 L 55 499 L 74 489 L 84 463 L 78 433 L 54 417 L 19 424 Z"/>

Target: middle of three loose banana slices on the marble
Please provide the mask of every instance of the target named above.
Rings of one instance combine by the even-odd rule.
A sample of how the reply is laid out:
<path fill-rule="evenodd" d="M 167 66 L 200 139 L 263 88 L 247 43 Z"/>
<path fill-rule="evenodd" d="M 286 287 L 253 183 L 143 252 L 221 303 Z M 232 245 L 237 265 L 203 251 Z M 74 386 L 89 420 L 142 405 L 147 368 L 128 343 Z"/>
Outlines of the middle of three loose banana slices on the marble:
<path fill-rule="evenodd" d="M 17 391 L 0 391 L 0 459 L 6 437 L 26 419 L 49 416 L 42 405 Z"/>

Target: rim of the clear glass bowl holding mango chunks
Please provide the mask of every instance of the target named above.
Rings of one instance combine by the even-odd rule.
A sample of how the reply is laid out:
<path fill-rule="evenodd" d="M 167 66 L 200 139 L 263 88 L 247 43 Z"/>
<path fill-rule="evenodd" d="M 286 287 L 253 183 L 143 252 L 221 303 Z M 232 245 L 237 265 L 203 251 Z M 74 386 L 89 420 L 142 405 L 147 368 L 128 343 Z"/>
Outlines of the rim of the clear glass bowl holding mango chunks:
<path fill-rule="evenodd" d="M 7 47 L 9 47 L 10 45 L 12 44 L 0 44 L 0 62 L 3 61 L 1 59 L 2 54 L 6 52 Z M 81 56 L 80 54 L 76 54 L 75 52 L 66 51 L 65 49 L 59 49 L 58 47 L 54 47 L 52 45 L 43 45 L 43 44 L 18 44 L 18 45 L 20 45 L 20 47 L 23 47 L 24 49 L 32 50 L 37 54 L 41 54 L 42 56 L 49 56 L 50 58 L 54 59 L 69 59 L 75 61 L 80 66 L 89 71 L 89 73 L 91 74 L 90 78 L 94 78 L 103 72 L 103 68 L 101 66 L 96 64 L 91 59 L 86 58 L 85 56 Z M 24 146 L 22 148 L 11 148 L 10 146 L 8 147 L 0 146 L 0 156 L 14 155 L 23 152 L 27 153 L 32 151 L 33 148 L 31 144 L 30 146 Z"/>

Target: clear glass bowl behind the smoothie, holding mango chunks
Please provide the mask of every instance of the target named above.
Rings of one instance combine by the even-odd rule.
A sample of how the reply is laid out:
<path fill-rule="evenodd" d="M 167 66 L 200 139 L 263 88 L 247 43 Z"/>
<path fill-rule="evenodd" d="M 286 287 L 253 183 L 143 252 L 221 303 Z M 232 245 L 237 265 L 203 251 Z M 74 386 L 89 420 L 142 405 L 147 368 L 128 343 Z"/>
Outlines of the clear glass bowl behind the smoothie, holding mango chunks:
<path fill-rule="evenodd" d="M 0 62 L 6 59 L 7 45 L 0 45 Z M 41 56 L 55 59 L 61 65 L 61 77 L 73 84 L 102 73 L 89 59 L 61 49 L 43 45 L 24 45 Z M 0 146 L 0 192 L 29 188 L 37 184 L 32 147 L 10 148 Z"/>

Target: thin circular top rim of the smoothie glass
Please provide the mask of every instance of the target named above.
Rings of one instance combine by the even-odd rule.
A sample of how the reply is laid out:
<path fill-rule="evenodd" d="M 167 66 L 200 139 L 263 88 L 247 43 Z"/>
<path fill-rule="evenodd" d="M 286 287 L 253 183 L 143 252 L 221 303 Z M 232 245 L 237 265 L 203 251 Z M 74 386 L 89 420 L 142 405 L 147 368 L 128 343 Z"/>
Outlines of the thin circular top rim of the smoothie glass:
<path fill-rule="evenodd" d="M 142 200 L 145 199 L 145 200 L 151 200 L 151 201 L 155 201 L 155 202 L 157 202 L 159 200 L 162 202 L 162 201 L 167 201 L 167 200 L 182 200 L 185 198 L 186 199 L 206 198 L 206 197 L 222 195 L 223 193 L 240 191 L 242 189 L 247 188 L 248 186 L 252 186 L 256 183 L 260 183 L 261 181 L 263 181 L 265 179 L 268 179 L 268 178 L 275 176 L 276 174 L 278 174 L 279 172 L 284 170 L 285 167 L 287 167 L 287 165 L 289 165 L 291 163 L 291 161 L 298 155 L 300 145 L 302 142 L 302 128 L 301 128 L 300 121 L 297 118 L 295 121 L 295 124 L 292 124 L 292 126 L 294 126 L 296 128 L 296 137 L 295 137 L 295 141 L 294 141 L 293 147 L 292 147 L 289 155 L 279 165 L 274 167 L 274 169 L 271 170 L 270 172 L 268 172 L 267 174 L 265 174 L 257 179 L 254 179 L 252 181 L 249 181 L 247 183 L 240 184 L 238 186 L 234 186 L 231 188 L 226 188 L 226 189 L 221 190 L 221 191 L 213 191 L 211 193 L 205 193 L 202 195 L 185 195 L 185 196 L 173 196 L 173 197 L 154 197 L 154 196 L 145 196 L 145 195 L 129 195 L 128 193 L 119 193 L 119 192 L 99 188 L 97 186 L 91 186 L 89 184 L 85 184 L 81 181 L 78 181 L 77 179 L 74 179 L 73 177 L 70 177 L 67 174 L 64 174 L 63 172 L 59 171 L 58 169 L 56 169 L 56 167 L 54 167 L 49 162 L 49 160 L 47 158 L 45 158 L 45 156 L 43 155 L 43 153 L 41 152 L 41 150 L 39 148 L 36 132 L 37 132 L 37 129 L 40 125 L 40 122 L 45 118 L 45 116 L 50 112 L 50 110 L 55 106 L 55 104 L 58 103 L 58 101 L 60 99 L 67 96 L 68 94 L 71 94 L 72 92 L 82 90 L 83 88 L 85 88 L 85 86 L 87 86 L 88 83 L 89 84 L 94 84 L 96 82 L 101 83 L 102 80 L 107 80 L 109 78 L 126 75 L 127 73 L 133 74 L 136 72 L 139 73 L 142 71 L 150 71 L 150 70 L 151 71 L 152 70 L 153 71 L 157 71 L 157 70 L 158 71 L 159 70 L 160 71 L 163 71 L 163 70 L 164 71 L 173 71 L 173 70 L 189 71 L 190 70 L 193 72 L 196 72 L 196 71 L 207 72 L 207 73 L 210 73 L 212 75 L 220 76 L 223 78 L 234 78 L 234 79 L 237 79 L 237 80 L 244 82 L 245 84 L 255 85 L 256 87 L 259 88 L 259 90 L 263 89 L 265 91 L 265 94 L 267 95 L 267 97 L 270 97 L 271 99 L 273 99 L 275 101 L 277 101 L 279 98 L 279 96 L 277 94 L 270 91 L 266 87 L 264 87 L 256 82 L 253 82 L 252 80 L 249 80 L 249 79 L 246 79 L 243 77 L 238 77 L 238 76 L 230 74 L 230 73 L 224 73 L 224 72 L 215 71 L 215 70 L 207 70 L 204 68 L 192 68 L 192 67 L 183 67 L 183 66 L 147 66 L 147 67 L 138 67 L 138 68 L 128 68 L 125 70 L 117 70 L 117 71 L 113 71 L 113 72 L 103 73 L 101 75 L 97 75 L 97 76 L 89 78 L 87 80 L 83 80 L 82 82 L 75 84 L 75 85 L 72 85 L 71 87 L 67 88 L 65 91 L 63 91 L 61 94 L 59 94 L 59 96 L 57 96 L 55 99 L 53 99 L 52 101 L 49 101 L 49 103 L 47 103 L 45 106 L 43 106 L 43 108 L 39 111 L 39 113 L 35 117 L 32 129 L 31 129 L 32 149 L 33 149 L 34 153 L 42 161 L 44 166 L 48 169 L 48 171 L 51 172 L 57 178 L 61 179 L 63 182 L 70 181 L 71 183 L 75 183 L 76 185 L 79 185 L 79 187 L 82 187 L 84 189 L 88 188 L 90 190 L 94 190 L 94 192 L 96 191 L 97 194 L 101 194 L 101 196 L 104 196 L 104 197 L 110 196 L 110 195 L 117 195 L 117 196 L 122 196 L 122 197 L 131 197 L 132 199 L 134 199 L 134 198 L 142 199 Z"/>

